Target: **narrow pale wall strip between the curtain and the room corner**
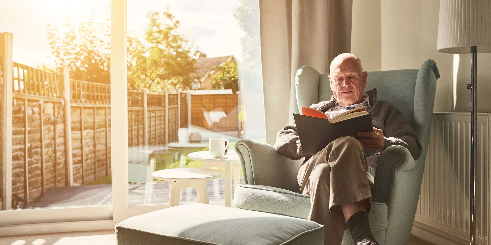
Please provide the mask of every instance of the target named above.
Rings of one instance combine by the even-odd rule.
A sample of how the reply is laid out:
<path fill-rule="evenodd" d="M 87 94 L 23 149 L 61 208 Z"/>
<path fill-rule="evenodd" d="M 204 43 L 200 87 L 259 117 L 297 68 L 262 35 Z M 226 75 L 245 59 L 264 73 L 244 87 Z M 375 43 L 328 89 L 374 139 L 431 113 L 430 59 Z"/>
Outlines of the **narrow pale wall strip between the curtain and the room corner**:
<path fill-rule="evenodd" d="M 367 72 L 382 70 L 380 10 L 380 0 L 353 0 L 351 53 L 360 58 Z"/>

